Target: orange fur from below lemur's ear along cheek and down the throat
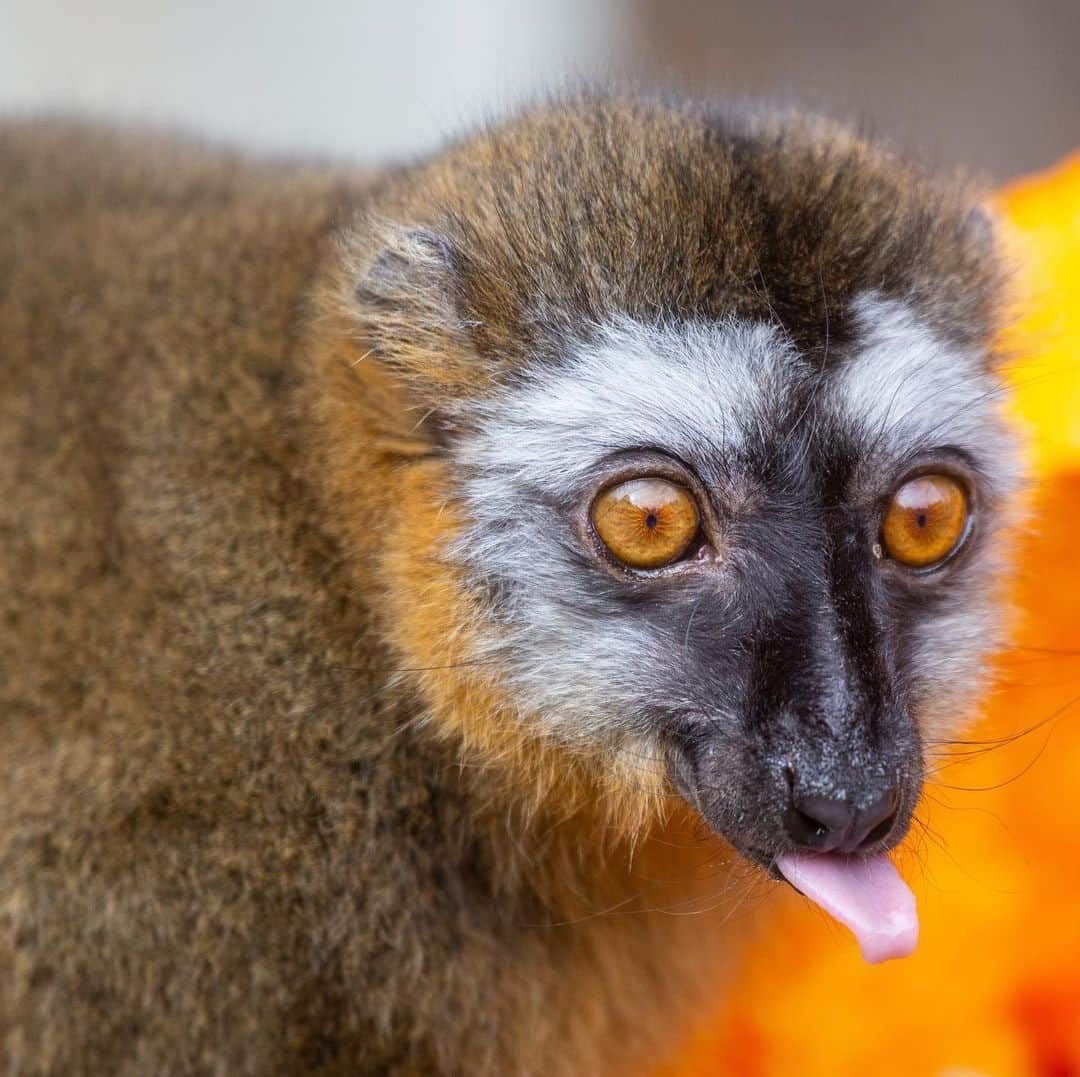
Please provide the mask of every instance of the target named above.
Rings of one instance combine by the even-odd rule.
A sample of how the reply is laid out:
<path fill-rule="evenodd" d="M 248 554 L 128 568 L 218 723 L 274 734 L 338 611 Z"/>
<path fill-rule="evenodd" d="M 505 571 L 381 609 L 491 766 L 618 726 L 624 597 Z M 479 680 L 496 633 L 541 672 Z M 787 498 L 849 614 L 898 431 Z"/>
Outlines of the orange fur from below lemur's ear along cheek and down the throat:
<path fill-rule="evenodd" d="M 557 990 L 566 978 L 577 985 L 578 1002 L 550 1027 L 527 996 L 503 999 L 507 1033 L 514 1052 L 553 1035 L 567 1064 L 609 1072 L 618 1052 L 598 1031 L 626 1021 L 616 1033 L 626 1044 L 671 1044 L 679 1021 L 650 999 L 662 990 L 681 1000 L 679 1014 L 699 1005 L 737 950 L 717 920 L 754 880 L 674 795 L 658 755 L 633 744 L 571 750 L 544 732 L 542 715 L 515 709 L 483 660 L 482 609 L 446 557 L 461 523 L 448 462 L 416 434 L 364 341 L 341 341 L 321 334 L 312 350 L 328 390 L 314 409 L 320 482 L 387 644 L 388 667 L 376 672 L 419 692 L 409 721 L 449 749 L 507 907 L 528 896 L 529 911 L 511 914 L 514 933 L 526 945 L 539 929 L 551 947 L 531 975 L 550 965 Z M 714 925 L 708 939 L 702 916 Z M 509 1056 L 499 1067 L 518 1065 Z M 545 1067 L 557 1072 L 561 1058 Z"/>

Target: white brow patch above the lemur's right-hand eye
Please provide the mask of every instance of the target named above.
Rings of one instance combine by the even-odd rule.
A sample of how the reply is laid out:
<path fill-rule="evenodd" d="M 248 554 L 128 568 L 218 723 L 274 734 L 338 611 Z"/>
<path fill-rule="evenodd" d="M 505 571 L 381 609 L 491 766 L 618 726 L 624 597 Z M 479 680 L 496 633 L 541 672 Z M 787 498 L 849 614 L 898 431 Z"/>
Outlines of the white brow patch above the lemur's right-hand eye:
<path fill-rule="evenodd" d="M 948 445 L 991 473 L 1012 471 L 1004 387 L 985 358 L 941 339 L 903 302 L 866 293 L 852 309 L 860 341 L 829 398 L 840 423 L 860 433 L 862 450 L 903 458 Z"/>

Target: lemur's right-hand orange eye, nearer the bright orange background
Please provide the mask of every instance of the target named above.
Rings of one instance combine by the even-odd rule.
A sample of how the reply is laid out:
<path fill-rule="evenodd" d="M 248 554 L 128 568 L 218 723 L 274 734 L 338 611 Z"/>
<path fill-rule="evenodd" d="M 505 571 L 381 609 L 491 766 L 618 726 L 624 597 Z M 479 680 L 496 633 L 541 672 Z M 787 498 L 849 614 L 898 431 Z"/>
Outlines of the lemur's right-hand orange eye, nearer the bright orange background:
<path fill-rule="evenodd" d="M 968 498 L 948 475 L 919 475 L 892 496 L 881 538 L 893 561 L 926 568 L 947 557 L 968 526 Z"/>

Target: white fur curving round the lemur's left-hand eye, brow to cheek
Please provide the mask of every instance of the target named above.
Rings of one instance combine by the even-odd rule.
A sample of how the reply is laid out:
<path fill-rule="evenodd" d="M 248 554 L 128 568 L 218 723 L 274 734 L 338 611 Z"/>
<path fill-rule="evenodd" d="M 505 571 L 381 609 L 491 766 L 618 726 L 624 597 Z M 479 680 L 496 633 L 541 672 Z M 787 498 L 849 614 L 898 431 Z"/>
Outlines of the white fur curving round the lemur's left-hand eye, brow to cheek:
<path fill-rule="evenodd" d="M 612 616 L 582 577 L 566 516 L 545 506 L 580 498 L 619 452 L 730 454 L 804 365 L 764 325 L 623 321 L 565 367 L 538 371 L 470 415 L 478 431 L 459 463 L 473 523 L 454 556 L 473 574 L 513 583 L 487 649 L 510 658 L 500 664 L 512 671 L 523 710 L 570 741 L 651 735 L 635 721 L 650 678 L 636 674 L 665 663 L 679 641 Z"/>

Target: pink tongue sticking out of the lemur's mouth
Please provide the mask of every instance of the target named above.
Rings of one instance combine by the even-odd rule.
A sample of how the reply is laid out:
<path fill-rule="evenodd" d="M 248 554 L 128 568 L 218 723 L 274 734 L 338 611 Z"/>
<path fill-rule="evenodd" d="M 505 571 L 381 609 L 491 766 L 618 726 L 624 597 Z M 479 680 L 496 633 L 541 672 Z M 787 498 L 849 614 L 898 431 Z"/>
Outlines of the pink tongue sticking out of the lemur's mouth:
<path fill-rule="evenodd" d="M 796 890 L 854 932 L 870 965 L 915 950 L 915 896 L 887 857 L 784 853 L 777 867 Z"/>

